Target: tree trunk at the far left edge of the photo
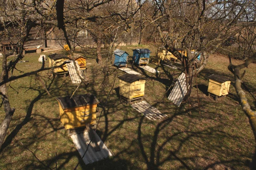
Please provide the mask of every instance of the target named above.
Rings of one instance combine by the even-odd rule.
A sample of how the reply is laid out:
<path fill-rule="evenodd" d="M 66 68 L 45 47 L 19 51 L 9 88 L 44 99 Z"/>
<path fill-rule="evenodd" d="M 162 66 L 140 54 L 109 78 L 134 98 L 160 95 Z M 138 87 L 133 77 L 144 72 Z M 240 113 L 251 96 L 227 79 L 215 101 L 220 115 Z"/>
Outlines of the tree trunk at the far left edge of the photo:
<path fill-rule="evenodd" d="M 2 69 L 3 70 L 0 77 L 1 82 L 3 82 L 5 79 L 8 79 L 7 58 L 5 54 L 3 54 Z M 3 119 L 3 122 L 0 125 L 0 148 L 1 148 L 6 136 L 6 132 L 9 128 L 9 125 L 12 119 L 12 115 L 15 111 L 15 108 L 11 108 L 11 105 L 8 99 L 8 94 L 7 94 L 8 86 L 6 84 L 0 86 L 0 92 L 3 100 L 3 108 L 6 113 L 5 118 Z"/>

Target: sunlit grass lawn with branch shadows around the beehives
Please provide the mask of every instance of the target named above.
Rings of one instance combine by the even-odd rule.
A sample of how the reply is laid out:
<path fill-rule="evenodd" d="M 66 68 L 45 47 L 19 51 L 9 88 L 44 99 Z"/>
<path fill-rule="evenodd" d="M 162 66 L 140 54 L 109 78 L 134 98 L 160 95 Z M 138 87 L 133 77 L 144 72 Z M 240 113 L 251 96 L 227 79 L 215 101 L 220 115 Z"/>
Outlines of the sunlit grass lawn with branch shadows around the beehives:
<path fill-rule="evenodd" d="M 151 56 L 156 51 L 154 45 L 119 48 L 130 55 L 135 48 L 149 48 Z M 183 102 L 177 107 L 167 99 L 170 91 L 165 93 L 180 70 L 150 63 L 149 66 L 160 71 L 159 74 L 152 74 L 134 66 L 136 71 L 148 78 L 145 84 L 145 101 L 168 116 L 151 121 L 131 106 L 119 102 L 117 77 L 125 74 L 124 72 L 109 66 L 109 79 L 106 80 L 102 67 L 96 63 L 95 51 L 84 53 L 84 56 L 87 56 L 87 78 L 90 84 L 87 87 L 81 85 L 76 94 L 95 95 L 101 102 L 98 107 L 101 112 L 114 84 L 97 130 L 113 156 L 94 164 L 83 163 L 60 122 L 59 106 L 55 100 L 58 96 L 71 95 L 76 85 L 72 84 L 70 77 L 49 78 L 49 71 L 44 71 L 39 75 L 46 83 L 50 95 L 35 76 L 17 79 L 10 84 L 10 103 L 16 110 L 0 149 L 0 169 L 47 169 L 54 168 L 57 163 L 58 169 L 69 170 L 79 161 L 78 169 L 88 170 L 249 169 L 255 141 L 248 118 L 241 110 L 233 82 L 227 97 L 221 97 L 217 101 L 207 97 L 209 75 L 216 73 L 233 78 L 227 69 L 227 57 L 212 54 L 208 65 L 198 75 L 201 114 L 198 113 L 196 88 L 192 88 L 191 116 L 188 114 L 187 103 Z M 14 75 L 23 74 L 20 71 L 29 72 L 40 68 L 38 58 L 39 54 L 26 54 L 24 60 L 29 62 L 18 63 Z M 239 63 L 241 61 L 233 61 L 233 64 Z M 131 57 L 128 67 L 131 67 Z M 256 91 L 255 68 L 256 64 L 251 64 L 244 77 L 244 82 L 252 91 Z M 247 96 L 255 110 L 256 102 L 249 94 Z M 2 107 L 0 121 L 3 118 Z"/>

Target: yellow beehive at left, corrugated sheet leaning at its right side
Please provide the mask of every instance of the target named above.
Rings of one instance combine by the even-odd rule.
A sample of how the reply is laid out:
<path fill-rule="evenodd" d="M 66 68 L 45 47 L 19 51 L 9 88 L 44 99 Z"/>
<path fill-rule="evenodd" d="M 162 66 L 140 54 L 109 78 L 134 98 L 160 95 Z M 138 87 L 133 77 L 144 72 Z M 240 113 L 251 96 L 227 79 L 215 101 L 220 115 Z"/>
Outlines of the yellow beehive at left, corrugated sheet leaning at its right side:
<path fill-rule="evenodd" d="M 70 61 L 70 58 L 63 54 L 50 54 L 49 57 L 49 67 L 54 67 L 63 64 L 65 61 Z M 67 64 L 63 65 L 62 68 L 54 68 L 51 70 L 53 75 L 66 75 L 67 74 Z"/>

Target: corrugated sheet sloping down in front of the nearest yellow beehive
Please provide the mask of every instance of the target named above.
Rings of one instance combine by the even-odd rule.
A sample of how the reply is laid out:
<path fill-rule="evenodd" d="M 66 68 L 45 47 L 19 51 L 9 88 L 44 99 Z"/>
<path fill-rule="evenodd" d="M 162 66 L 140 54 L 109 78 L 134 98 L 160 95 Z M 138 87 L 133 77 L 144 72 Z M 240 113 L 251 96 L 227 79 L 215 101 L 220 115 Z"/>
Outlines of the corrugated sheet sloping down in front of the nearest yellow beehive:
<path fill-rule="evenodd" d="M 108 150 L 108 147 L 106 147 L 106 145 L 102 142 L 97 133 L 94 131 L 93 133 L 95 134 L 95 138 L 100 147 L 100 150 L 97 152 L 95 152 L 92 144 L 90 143 L 90 137 L 87 131 L 70 136 L 81 157 L 84 155 L 88 144 L 90 143 L 88 150 L 83 157 L 84 164 L 91 164 L 93 162 L 100 161 L 102 159 L 108 158 L 109 156 L 112 156 L 110 150 Z"/>

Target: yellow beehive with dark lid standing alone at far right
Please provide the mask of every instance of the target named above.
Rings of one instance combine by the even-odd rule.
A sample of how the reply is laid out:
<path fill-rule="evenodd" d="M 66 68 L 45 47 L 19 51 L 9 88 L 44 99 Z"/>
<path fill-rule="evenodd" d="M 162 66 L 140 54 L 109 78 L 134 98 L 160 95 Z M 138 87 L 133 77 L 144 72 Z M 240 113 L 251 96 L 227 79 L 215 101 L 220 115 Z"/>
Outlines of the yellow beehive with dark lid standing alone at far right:
<path fill-rule="evenodd" d="M 230 88 L 229 78 L 212 74 L 209 77 L 209 85 L 208 85 L 208 96 L 211 94 L 215 95 L 215 100 L 218 99 L 219 96 L 226 96 L 228 94 Z"/>

